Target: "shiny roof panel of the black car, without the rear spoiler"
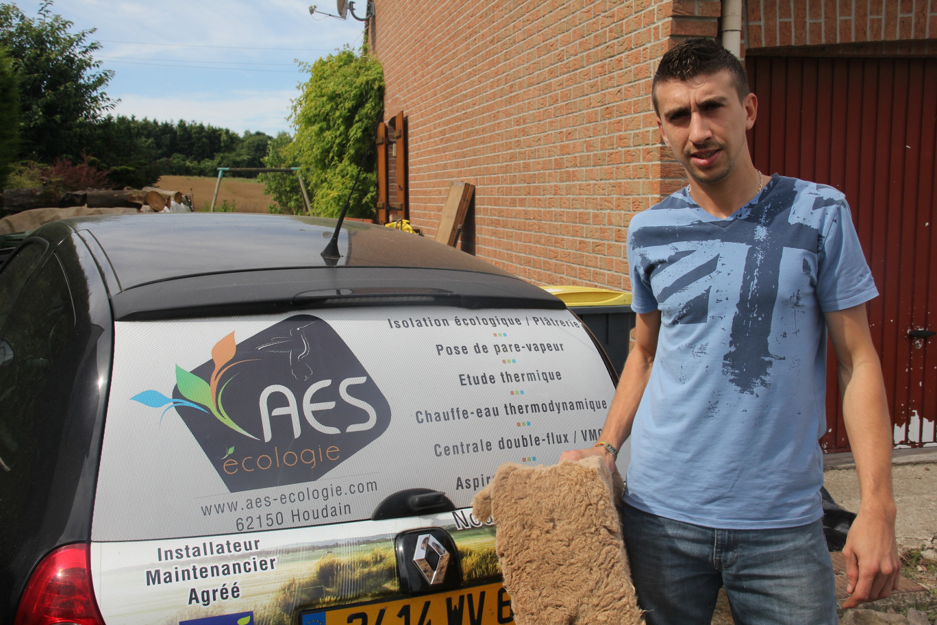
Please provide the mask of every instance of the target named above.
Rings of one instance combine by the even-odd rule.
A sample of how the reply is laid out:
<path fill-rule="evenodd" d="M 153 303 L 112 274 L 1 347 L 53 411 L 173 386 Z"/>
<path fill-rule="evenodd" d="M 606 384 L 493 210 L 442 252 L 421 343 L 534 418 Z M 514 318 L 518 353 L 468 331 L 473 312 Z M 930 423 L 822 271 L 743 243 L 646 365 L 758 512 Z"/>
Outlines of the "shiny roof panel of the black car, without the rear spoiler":
<path fill-rule="evenodd" d="M 335 219 L 236 213 L 90 216 L 63 219 L 89 231 L 125 289 L 195 274 L 325 267 L 321 252 Z M 509 275 L 494 265 L 424 237 L 345 221 L 339 264 L 424 267 Z"/>

